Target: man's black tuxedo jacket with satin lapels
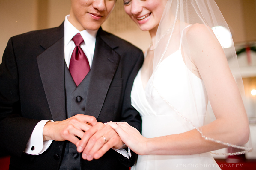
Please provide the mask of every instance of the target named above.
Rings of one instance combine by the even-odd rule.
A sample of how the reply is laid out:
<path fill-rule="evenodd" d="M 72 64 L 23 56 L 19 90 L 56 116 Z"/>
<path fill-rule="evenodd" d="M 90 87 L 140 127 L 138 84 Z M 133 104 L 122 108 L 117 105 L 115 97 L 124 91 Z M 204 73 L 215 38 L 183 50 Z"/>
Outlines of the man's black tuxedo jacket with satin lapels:
<path fill-rule="evenodd" d="M 143 62 L 141 50 L 99 29 L 85 115 L 98 122 L 126 121 L 141 131 L 131 106 L 133 80 Z M 11 155 L 10 169 L 57 170 L 64 142 L 53 141 L 40 155 L 26 155 L 28 139 L 40 120 L 66 119 L 64 24 L 10 38 L 0 65 L 0 147 Z M 127 169 L 135 162 L 110 149 L 99 160 L 81 160 L 81 169 Z"/>

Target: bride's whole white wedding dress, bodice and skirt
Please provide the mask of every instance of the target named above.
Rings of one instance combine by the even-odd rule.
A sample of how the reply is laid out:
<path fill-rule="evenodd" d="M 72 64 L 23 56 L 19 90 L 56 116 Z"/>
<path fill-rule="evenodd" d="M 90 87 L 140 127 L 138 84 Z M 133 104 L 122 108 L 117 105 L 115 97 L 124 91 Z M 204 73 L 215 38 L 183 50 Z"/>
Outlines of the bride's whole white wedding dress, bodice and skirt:
<path fill-rule="evenodd" d="M 204 82 L 185 65 L 180 48 L 160 63 L 153 79 L 154 86 L 177 111 L 187 117 L 196 127 L 200 127 L 203 125 L 208 103 L 206 89 Z M 189 74 L 193 74 L 191 81 L 195 89 L 193 101 L 187 97 L 191 93 L 189 89 L 191 82 L 187 79 Z M 160 97 L 153 87 L 152 78 L 153 76 L 150 77 L 144 90 L 140 70 L 134 80 L 131 92 L 132 106 L 139 111 L 142 117 L 142 135 L 153 138 L 194 129 Z M 193 113 L 191 110 L 195 110 L 195 112 Z M 195 115 L 199 115 L 199 118 Z M 137 163 L 132 167 L 132 170 L 167 169 L 213 170 L 220 168 L 210 152 L 179 156 L 139 155 Z"/>

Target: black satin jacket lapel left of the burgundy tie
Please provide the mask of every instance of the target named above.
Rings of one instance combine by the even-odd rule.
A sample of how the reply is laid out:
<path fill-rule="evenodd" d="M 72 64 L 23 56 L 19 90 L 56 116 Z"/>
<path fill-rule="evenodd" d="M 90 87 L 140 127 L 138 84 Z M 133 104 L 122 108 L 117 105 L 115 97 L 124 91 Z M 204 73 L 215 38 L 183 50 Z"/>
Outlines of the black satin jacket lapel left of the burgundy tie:
<path fill-rule="evenodd" d="M 53 38 L 41 42 L 46 50 L 37 56 L 37 64 L 52 118 L 61 121 L 66 119 L 63 24 L 56 29 Z"/>

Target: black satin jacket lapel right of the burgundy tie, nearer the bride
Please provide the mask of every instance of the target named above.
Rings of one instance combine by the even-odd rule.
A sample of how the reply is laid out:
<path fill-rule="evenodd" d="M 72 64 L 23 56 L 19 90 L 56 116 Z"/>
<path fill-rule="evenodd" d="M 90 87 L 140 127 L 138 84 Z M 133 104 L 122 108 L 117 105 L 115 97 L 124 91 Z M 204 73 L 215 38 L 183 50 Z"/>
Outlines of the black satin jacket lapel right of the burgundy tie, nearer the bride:
<path fill-rule="evenodd" d="M 98 118 L 105 101 L 109 85 L 115 75 L 120 56 L 113 49 L 117 48 L 108 35 L 100 28 L 91 67 L 91 79 L 85 104 L 85 115 Z"/>

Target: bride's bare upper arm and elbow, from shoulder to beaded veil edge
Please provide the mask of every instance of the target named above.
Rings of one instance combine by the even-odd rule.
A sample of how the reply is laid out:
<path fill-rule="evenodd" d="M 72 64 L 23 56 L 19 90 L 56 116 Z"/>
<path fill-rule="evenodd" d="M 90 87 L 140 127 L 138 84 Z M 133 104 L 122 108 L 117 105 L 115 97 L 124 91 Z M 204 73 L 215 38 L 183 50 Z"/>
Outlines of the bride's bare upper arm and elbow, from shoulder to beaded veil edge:
<path fill-rule="evenodd" d="M 210 30 L 210 31 L 209 31 Z M 249 122 L 225 53 L 213 31 L 195 24 L 187 31 L 192 62 L 207 91 L 216 120 L 203 127 L 205 136 L 243 145 L 249 140 Z"/>

